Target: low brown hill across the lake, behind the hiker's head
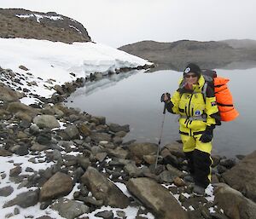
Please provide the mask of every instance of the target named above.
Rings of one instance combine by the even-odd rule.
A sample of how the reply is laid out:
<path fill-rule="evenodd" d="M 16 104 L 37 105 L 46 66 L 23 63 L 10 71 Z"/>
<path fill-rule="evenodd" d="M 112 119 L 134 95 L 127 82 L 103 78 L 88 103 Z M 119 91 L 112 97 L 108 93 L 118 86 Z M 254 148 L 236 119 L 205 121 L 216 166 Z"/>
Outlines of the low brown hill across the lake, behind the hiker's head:
<path fill-rule="evenodd" d="M 249 42 L 250 45 L 252 42 Z M 232 68 L 233 63 L 236 66 L 234 68 L 237 66 L 247 68 L 256 66 L 256 47 L 247 46 L 247 43 L 239 40 L 224 42 L 180 40 L 173 43 L 142 41 L 119 49 L 148 59 L 160 69 L 182 71 L 188 62 L 196 62 L 202 68 L 225 68 L 225 66 Z"/>

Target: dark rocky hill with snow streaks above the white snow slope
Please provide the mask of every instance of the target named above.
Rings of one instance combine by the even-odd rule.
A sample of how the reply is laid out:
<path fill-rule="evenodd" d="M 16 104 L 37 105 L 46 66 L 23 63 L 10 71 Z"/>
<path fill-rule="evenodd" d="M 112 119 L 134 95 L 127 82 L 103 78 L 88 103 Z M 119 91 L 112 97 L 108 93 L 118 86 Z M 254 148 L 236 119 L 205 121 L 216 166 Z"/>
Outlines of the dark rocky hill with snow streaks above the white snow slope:
<path fill-rule="evenodd" d="M 56 14 L 26 9 L 0 9 L 0 37 L 35 38 L 63 43 L 90 42 L 78 21 Z"/>

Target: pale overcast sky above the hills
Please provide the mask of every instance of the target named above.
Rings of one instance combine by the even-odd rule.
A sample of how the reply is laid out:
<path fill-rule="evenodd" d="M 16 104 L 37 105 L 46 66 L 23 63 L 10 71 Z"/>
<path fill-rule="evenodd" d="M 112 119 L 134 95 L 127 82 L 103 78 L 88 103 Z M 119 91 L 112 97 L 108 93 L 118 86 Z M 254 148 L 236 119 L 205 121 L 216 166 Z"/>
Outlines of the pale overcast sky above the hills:
<path fill-rule="evenodd" d="M 0 7 L 55 11 L 115 48 L 142 40 L 256 40 L 255 0 L 0 0 Z"/>

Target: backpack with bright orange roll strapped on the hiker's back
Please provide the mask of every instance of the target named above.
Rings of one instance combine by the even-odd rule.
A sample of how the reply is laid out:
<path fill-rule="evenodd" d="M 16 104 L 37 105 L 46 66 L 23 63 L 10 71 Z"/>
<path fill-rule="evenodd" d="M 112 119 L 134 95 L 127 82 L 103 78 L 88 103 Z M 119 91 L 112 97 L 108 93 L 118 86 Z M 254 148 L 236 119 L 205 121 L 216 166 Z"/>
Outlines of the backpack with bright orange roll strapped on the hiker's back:
<path fill-rule="evenodd" d="M 233 98 L 228 88 L 227 83 L 230 81 L 228 78 L 217 77 L 217 73 L 212 70 L 201 70 L 206 83 L 203 87 L 203 95 L 207 96 L 207 84 L 214 84 L 214 94 L 218 105 L 218 111 L 220 112 L 221 121 L 230 122 L 239 116 L 239 112 L 234 107 Z"/>

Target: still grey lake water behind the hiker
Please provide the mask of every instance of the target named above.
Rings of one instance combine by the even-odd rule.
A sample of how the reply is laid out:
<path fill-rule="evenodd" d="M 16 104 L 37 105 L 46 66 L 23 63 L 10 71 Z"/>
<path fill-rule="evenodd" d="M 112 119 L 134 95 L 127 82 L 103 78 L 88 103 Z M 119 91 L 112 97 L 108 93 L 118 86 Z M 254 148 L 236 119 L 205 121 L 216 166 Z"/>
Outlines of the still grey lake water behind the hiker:
<path fill-rule="evenodd" d="M 218 76 L 230 78 L 229 88 L 240 116 L 216 127 L 212 153 L 226 157 L 252 153 L 256 149 L 256 68 L 217 72 Z M 66 104 L 94 116 L 104 116 L 107 123 L 130 124 L 131 131 L 124 141 L 158 143 L 164 107 L 160 95 L 173 94 L 181 77 L 182 72 L 172 70 L 121 73 L 77 89 Z M 179 139 L 177 115 L 166 112 L 161 147 Z"/>

